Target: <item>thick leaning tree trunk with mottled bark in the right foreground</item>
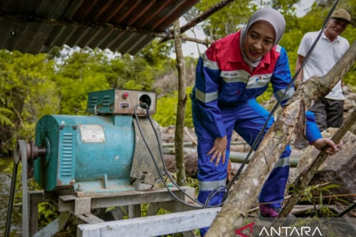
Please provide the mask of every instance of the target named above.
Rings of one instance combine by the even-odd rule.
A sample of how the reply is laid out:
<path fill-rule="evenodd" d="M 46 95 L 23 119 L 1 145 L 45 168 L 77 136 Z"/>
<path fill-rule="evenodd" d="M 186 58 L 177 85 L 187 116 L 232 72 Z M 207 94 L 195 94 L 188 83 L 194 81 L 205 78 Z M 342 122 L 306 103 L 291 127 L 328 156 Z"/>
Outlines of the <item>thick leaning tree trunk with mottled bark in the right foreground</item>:
<path fill-rule="evenodd" d="M 312 101 L 326 96 L 349 70 L 355 58 L 356 42 L 351 45 L 328 74 L 323 77 L 311 77 L 299 86 L 261 141 L 250 165 L 241 175 L 240 181 L 234 185 L 223 208 L 206 233 L 207 237 L 235 236 L 235 228 L 244 226 L 244 219 L 240 217 L 246 216 L 278 157 L 289 144 L 301 114 L 301 107 L 304 108 L 304 113 L 305 109 L 311 106 Z"/>

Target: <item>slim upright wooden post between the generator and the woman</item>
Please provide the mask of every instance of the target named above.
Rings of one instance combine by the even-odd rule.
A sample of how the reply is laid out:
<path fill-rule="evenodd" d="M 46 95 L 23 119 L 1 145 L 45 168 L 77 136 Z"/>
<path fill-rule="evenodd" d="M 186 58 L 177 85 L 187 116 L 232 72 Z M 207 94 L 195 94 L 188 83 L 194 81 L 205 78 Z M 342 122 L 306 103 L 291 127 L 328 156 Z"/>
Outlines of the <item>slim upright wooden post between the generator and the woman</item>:
<path fill-rule="evenodd" d="M 184 117 L 185 104 L 187 102 L 187 94 L 185 92 L 185 64 L 182 50 L 182 37 L 180 36 L 179 20 L 174 22 L 174 47 L 176 49 L 177 69 L 178 69 L 178 103 L 177 103 L 177 118 L 176 132 L 174 134 L 174 148 L 176 151 L 176 172 L 177 183 L 180 186 L 185 185 L 185 166 L 183 152 L 183 136 L 184 136 Z"/>

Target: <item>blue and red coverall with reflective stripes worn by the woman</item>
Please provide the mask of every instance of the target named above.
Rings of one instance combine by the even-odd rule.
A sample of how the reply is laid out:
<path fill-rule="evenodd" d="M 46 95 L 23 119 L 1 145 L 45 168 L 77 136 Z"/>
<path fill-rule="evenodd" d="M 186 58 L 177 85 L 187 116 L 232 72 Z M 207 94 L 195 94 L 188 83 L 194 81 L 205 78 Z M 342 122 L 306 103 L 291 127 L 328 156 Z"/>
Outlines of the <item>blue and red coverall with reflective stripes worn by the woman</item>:
<path fill-rule="evenodd" d="M 274 96 L 279 99 L 291 81 L 286 50 L 276 45 L 264 55 L 260 64 L 251 71 L 240 52 L 240 31 L 214 42 L 200 56 L 196 69 L 195 87 L 191 94 L 195 133 L 198 137 L 198 201 L 205 203 L 211 190 L 225 185 L 227 158 L 229 157 L 232 131 L 235 130 L 250 146 L 269 115 L 256 102 L 256 97 L 266 91 L 271 81 Z M 282 100 L 282 107 L 294 93 L 291 87 Z M 312 112 L 306 113 L 306 135 L 309 142 L 321 138 Z M 273 124 L 268 121 L 265 133 Z M 226 162 L 210 163 L 215 138 L 227 136 Z M 263 134 L 264 136 L 265 134 Z M 289 162 L 289 145 L 283 151 L 276 166 L 261 190 L 260 203 L 280 208 L 284 198 Z M 221 203 L 224 193 L 218 193 L 209 205 Z M 204 235 L 204 233 L 202 233 Z"/>

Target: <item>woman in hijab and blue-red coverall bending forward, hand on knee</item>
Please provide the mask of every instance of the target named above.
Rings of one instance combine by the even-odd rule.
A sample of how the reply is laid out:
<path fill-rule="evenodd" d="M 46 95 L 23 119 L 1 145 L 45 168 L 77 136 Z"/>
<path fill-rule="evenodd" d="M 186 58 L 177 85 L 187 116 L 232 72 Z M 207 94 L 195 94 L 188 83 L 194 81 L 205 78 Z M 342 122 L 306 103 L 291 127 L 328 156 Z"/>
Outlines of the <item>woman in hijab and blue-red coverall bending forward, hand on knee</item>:
<path fill-rule="evenodd" d="M 200 56 L 193 88 L 192 111 L 198 137 L 198 201 L 205 203 L 215 188 L 226 184 L 227 159 L 232 131 L 235 130 L 250 146 L 269 115 L 256 102 L 256 97 L 272 83 L 279 99 L 292 80 L 286 50 L 277 45 L 286 22 L 271 8 L 256 11 L 240 31 L 215 41 Z M 293 86 L 283 97 L 281 106 L 294 93 Z M 306 113 L 306 135 L 317 149 L 330 145 L 328 153 L 338 151 L 333 141 L 321 138 L 312 112 Z M 273 124 L 268 121 L 264 134 Z M 263 134 L 263 136 L 264 136 Z M 289 145 L 263 185 L 259 202 L 263 217 L 276 217 L 281 210 L 289 173 Z M 217 193 L 209 205 L 221 203 L 224 193 Z M 207 228 L 201 229 L 204 236 Z"/>

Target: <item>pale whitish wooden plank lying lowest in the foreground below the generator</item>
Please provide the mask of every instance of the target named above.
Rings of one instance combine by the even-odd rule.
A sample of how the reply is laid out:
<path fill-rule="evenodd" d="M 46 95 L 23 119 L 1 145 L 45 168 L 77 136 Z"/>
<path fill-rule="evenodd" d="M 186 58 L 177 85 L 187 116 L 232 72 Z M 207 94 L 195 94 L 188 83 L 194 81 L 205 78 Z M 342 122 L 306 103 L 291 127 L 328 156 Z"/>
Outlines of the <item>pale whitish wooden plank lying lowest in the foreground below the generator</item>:
<path fill-rule="evenodd" d="M 221 208 L 207 208 L 172 214 L 78 225 L 81 237 L 149 237 L 210 226 Z"/>

